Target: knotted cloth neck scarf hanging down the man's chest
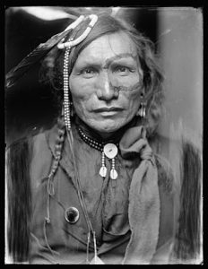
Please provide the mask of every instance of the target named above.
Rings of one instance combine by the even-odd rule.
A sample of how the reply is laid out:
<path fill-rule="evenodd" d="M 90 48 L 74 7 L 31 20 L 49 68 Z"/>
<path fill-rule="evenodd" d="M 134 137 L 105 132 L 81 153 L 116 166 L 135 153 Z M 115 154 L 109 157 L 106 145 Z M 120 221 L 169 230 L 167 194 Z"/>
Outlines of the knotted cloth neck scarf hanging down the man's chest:
<path fill-rule="evenodd" d="M 144 127 L 128 129 L 119 147 L 124 159 L 133 158 L 135 154 L 141 158 L 129 190 L 128 217 L 132 235 L 123 264 L 150 264 L 159 236 L 160 196 L 157 167 Z"/>

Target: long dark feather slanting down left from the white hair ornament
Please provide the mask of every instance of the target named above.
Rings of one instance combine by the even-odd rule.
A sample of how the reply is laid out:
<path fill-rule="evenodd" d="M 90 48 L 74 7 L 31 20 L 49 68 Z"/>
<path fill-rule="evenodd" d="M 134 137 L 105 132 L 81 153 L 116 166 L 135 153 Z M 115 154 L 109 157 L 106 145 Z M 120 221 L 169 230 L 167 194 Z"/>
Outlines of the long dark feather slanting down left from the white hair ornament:
<path fill-rule="evenodd" d="M 48 39 L 47 42 L 39 44 L 30 54 L 24 57 L 19 65 L 16 65 L 9 73 L 5 76 L 5 87 L 8 89 L 17 82 L 23 74 L 29 71 L 29 69 L 37 64 L 48 52 L 56 46 L 65 36 L 72 31 L 72 29 L 65 30 L 61 33 L 54 35 Z"/>

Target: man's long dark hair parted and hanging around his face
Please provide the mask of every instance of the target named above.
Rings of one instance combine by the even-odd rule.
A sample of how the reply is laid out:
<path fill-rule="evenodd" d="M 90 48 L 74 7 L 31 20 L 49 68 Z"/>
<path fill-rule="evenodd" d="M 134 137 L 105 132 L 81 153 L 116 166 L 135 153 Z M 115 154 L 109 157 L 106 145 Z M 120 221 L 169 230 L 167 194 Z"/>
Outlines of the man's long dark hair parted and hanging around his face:
<path fill-rule="evenodd" d="M 77 27 L 71 38 L 76 39 L 86 29 L 89 21 L 82 22 Z M 164 91 L 162 87 L 163 75 L 157 65 L 157 56 L 152 41 L 146 38 L 134 26 L 123 19 L 115 18 L 108 13 L 98 15 L 98 22 L 92 28 L 90 34 L 79 45 L 72 48 L 69 56 L 69 74 L 79 54 L 93 40 L 103 35 L 115 32 L 125 32 L 135 44 L 139 63 L 143 70 L 143 89 L 147 99 L 147 117 L 145 125 L 148 135 L 153 134 L 158 126 L 162 113 L 162 103 L 164 100 Z M 68 38 L 68 37 L 67 37 Z M 63 61 L 64 51 L 55 48 L 43 61 L 40 69 L 40 81 L 49 83 L 53 89 L 58 91 L 58 103 L 61 107 L 63 100 Z M 55 91 L 55 92 L 57 92 Z"/>

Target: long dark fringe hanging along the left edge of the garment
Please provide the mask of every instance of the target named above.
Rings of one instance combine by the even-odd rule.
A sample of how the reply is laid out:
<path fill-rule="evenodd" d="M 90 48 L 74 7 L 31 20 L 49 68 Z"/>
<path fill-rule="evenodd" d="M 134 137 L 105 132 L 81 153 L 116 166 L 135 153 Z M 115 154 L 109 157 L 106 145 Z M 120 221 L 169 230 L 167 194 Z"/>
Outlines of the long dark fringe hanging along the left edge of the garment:
<path fill-rule="evenodd" d="M 30 139 L 13 143 L 7 150 L 8 253 L 13 262 L 28 259 L 30 244 Z"/>

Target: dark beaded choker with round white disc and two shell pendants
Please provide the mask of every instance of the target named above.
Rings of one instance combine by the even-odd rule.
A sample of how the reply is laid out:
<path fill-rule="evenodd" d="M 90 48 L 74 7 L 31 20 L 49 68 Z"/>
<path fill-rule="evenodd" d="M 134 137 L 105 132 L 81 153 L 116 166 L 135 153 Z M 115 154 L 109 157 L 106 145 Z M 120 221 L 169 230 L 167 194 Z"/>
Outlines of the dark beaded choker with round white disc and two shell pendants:
<path fill-rule="evenodd" d="M 115 169 L 115 157 L 117 156 L 118 143 L 100 143 L 96 140 L 91 139 L 87 134 L 84 134 L 81 128 L 78 128 L 78 132 L 85 143 L 89 144 L 92 148 L 102 152 L 102 166 L 100 168 L 100 176 L 102 178 L 105 178 L 107 175 L 107 168 L 105 165 L 105 157 L 107 157 L 108 159 L 112 160 L 110 178 L 117 179 L 117 170 Z"/>

